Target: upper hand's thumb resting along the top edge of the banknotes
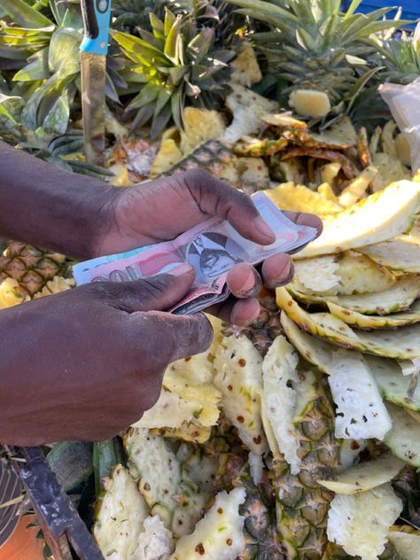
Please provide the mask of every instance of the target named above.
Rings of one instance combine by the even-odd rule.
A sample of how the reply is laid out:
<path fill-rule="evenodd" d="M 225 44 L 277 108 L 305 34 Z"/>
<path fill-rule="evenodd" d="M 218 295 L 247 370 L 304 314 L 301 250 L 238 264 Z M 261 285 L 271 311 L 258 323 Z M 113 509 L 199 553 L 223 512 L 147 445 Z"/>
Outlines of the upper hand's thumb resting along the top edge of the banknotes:
<path fill-rule="evenodd" d="M 187 171 L 183 174 L 183 182 L 204 214 L 224 218 L 241 236 L 254 243 L 270 245 L 276 240 L 273 230 L 244 192 L 237 191 L 202 169 Z"/>

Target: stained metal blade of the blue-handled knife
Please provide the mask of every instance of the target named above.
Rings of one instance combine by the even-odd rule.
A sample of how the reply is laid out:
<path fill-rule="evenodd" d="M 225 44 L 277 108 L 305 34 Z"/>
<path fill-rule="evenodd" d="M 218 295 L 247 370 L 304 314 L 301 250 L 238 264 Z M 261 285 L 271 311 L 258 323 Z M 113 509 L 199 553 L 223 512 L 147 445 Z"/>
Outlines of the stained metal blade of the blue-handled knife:
<path fill-rule="evenodd" d="M 82 115 L 86 161 L 104 164 L 106 57 L 81 53 Z"/>

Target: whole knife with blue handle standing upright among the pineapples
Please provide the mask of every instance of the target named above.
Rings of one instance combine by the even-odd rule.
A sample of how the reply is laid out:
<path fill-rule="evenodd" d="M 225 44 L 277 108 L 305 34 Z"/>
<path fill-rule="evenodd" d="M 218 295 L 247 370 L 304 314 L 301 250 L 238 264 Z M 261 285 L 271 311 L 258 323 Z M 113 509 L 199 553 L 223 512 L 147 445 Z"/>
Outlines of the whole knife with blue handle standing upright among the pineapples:
<path fill-rule="evenodd" d="M 111 0 L 82 0 L 82 120 L 86 161 L 104 163 L 106 53 Z"/>

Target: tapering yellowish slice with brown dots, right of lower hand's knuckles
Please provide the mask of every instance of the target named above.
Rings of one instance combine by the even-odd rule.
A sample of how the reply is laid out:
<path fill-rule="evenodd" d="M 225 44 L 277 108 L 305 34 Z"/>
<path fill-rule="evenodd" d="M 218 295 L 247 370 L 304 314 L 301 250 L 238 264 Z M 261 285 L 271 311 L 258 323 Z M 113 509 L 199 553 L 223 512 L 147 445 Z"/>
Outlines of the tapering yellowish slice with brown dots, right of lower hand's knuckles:
<path fill-rule="evenodd" d="M 224 414 L 255 454 L 268 450 L 261 423 L 262 359 L 251 340 L 222 338 L 214 358 L 214 385 L 222 391 Z"/>

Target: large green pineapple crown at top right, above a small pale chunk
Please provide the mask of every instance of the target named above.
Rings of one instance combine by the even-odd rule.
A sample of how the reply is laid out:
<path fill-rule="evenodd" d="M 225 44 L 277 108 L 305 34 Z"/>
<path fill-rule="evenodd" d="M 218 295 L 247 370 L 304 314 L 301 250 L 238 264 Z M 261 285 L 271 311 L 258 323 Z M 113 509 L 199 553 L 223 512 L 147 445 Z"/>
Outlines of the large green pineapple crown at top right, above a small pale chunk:
<path fill-rule="evenodd" d="M 259 51 L 268 59 L 269 72 L 288 84 L 284 93 L 301 89 L 315 90 L 311 94 L 314 102 L 305 104 L 304 108 L 309 105 L 311 113 L 318 113 L 317 116 L 324 116 L 328 109 L 325 97 L 328 97 L 330 105 L 353 97 L 355 68 L 363 67 L 364 60 L 361 57 L 367 51 L 362 41 L 377 30 L 399 25 L 393 20 L 384 22 L 380 19 L 390 12 L 390 8 L 372 12 L 366 17 L 354 13 L 354 4 L 347 12 L 341 12 L 338 1 L 229 2 L 242 8 L 240 13 L 259 19 L 271 27 L 268 32 L 253 35 Z M 364 75 L 367 81 L 369 72 L 366 71 Z M 317 92 L 324 94 L 322 104 L 319 103 Z M 307 101 L 307 97 L 303 99 Z"/>

